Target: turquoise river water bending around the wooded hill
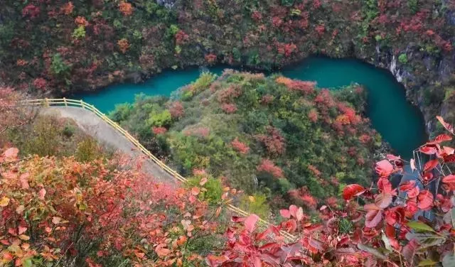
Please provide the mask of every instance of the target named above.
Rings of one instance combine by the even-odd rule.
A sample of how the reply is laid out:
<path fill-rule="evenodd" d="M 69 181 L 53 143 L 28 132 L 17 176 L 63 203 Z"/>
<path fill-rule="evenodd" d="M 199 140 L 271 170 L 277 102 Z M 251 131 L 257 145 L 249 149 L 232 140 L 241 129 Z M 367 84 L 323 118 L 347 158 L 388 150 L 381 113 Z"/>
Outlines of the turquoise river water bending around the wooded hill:
<path fill-rule="evenodd" d="M 220 75 L 224 68 L 210 67 L 209 70 Z M 134 102 L 136 94 L 169 96 L 179 87 L 196 80 L 201 71 L 199 68 L 166 70 L 142 84 L 112 85 L 76 97 L 108 113 L 116 104 Z M 387 70 L 360 60 L 314 56 L 285 67 L 281 73 L 293 79 L 316 81 L 320 88 L 337 89 L 353 82 L 363 85 L 368 90 L 367 114 L 373 127 L 404 158 L 410 158 L 414 148 L 427 138 L 422 114 L 407 101 L 405 88 Z"/>

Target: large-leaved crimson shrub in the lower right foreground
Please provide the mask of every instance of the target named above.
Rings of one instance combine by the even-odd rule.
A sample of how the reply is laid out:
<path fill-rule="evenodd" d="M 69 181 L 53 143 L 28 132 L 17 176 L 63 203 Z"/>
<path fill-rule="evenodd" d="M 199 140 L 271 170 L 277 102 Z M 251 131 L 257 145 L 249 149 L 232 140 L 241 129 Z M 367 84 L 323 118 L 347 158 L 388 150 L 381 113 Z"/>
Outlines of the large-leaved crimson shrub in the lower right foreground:
<path fill-rule="evenodd" d="M 225 233 L 227 244 L 217 255 L 206 258 L 209 266 L 451 266 L 454 261 L 455 226 L 453 198 L 455 149 L 444 146 L 454 130 L 444 119 L 441 124 L 451 135 L 441 135 L 414 151 L 432 158 L 427 163 L 387 155 L 376 165 L 380 176 L 373 187 L 347 185 L 343 189 L 346 207 L 338 210 L 336 198 L 319 208 L 321 222 L 314 223 L 304 209 L 291 205 L 279 214 L 283 221 L 267 229 L 259 228 L 258 218 L 232 217 L 240 224 Z M 432 149 L 428 149 L 432 148 Z M 269 162 L 268 165 L 273 163 Z M 407 170 L 407 168 L 410 170 Z M 393 188 L 390 175 L 405 173 L 414 180 Z M 431 173 L 432 175 L 429 175 Z M 439 186 L 434 187 L 432 184 Z M 306 188 L 289 195 L 316 207 Z M 363 198 L 363 207 L 357 198 Z M 432 212 L 431 218 L 419 211 Z M 292 234 L 293 236 L 289 236 Z"/>

